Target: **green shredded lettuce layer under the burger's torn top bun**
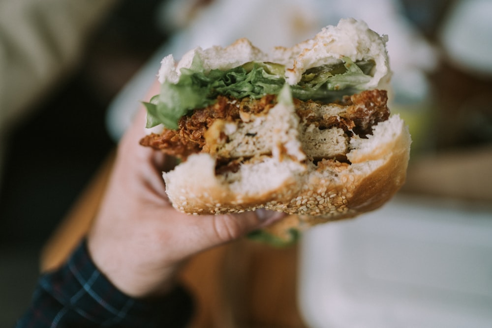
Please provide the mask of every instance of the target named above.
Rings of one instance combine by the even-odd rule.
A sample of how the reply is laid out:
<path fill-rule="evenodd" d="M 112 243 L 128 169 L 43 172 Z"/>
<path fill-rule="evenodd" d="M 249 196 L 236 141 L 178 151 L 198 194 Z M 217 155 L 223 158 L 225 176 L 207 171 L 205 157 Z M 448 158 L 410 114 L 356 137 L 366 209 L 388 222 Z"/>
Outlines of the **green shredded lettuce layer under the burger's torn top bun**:
<path fill-rule="evenodd" d="M 353 63 L 348 57 L 342 60 L 337 65 L 305 72 L 301 82 L 291 86 L 292 97 L 332 102 L 356 93 L 369 82 L 374 63 Z M 177 129 L 182 116 L 213 104 L 218 95 L 257 99 L 267 94 L 278 95 L 286 84 L 285 67 L 270 62 L 248 62 L 227 71 L 214 69 L 206 73 L 200 58 L 195 56 L 190 68 L 180 72 L 177 83 L 162 83 L 159 95 L 144 103 L 148 128 L 163 124 L 168 129 Z"/>

